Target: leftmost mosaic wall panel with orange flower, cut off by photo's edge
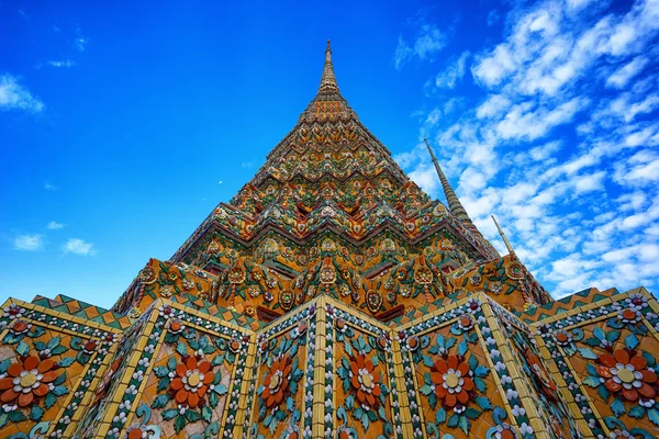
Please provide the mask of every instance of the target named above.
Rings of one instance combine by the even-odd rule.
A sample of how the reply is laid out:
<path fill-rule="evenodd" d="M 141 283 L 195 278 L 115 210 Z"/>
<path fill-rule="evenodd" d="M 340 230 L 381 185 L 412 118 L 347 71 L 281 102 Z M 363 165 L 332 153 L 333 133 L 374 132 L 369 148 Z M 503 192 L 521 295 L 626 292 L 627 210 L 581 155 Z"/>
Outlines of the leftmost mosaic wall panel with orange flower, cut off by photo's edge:
<path fill-rule="evenodd" d="M 70 437 L 122 333 L 13 299 L 1 313 L 0 437 Z"/>

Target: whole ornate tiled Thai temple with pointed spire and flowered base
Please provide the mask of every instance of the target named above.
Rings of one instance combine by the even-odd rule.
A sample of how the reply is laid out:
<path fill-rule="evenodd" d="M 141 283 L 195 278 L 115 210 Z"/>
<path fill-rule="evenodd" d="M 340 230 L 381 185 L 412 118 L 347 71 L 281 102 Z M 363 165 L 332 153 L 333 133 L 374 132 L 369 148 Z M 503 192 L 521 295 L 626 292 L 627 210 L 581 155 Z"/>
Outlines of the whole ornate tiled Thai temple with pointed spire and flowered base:
<path fill-rule="evenodd" d="M 554 300 L 427 145 L 446 202 L 361 124 L 327 44 L 256 176 L 111 309 L 2 305 L 0 437 L 659 437 L 654 296 Z"/>

